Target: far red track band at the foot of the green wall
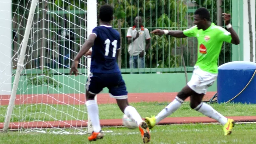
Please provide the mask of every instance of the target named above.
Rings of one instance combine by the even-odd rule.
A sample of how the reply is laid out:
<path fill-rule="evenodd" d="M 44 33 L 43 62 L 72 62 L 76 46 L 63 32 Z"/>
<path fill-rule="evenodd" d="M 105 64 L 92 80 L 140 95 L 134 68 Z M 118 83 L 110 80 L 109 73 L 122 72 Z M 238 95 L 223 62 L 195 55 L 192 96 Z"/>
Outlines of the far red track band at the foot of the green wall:
<path fill-rule="evenodd" d="M 209 100 L 216 92 L 207 92 L 204 100 Z M 138 102 L 171 102 L 177 93 L 130 93 L 128 94 L 129 103 Z M 10 95 L 0 95 L 0 105 L 9 104 Z M 187 99 L 187 101 L 189 98 Z M 58 104 L 58 105 L 84 105 L 84 94 L 24 94 L 16 95 L 15 105 L 22 104 Z M 115 104 L 116 99 L 109 94 L 98 94 L 98 104 Z"/>

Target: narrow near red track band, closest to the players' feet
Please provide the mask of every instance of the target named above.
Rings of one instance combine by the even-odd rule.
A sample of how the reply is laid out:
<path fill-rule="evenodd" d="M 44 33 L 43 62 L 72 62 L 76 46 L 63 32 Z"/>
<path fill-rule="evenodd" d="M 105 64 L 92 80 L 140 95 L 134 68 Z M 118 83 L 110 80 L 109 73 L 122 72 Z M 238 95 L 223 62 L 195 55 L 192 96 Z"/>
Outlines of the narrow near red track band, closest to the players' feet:
<path fill-rule="evenodd" d="M 235 122 L 255 122 L 256 116 L 228 116 L 232 118 Z M 191 123 L 216 123 L 209 117 L 167 117 L 163 119 L 159 125 L 167 124 L 191 124 Z M 122 119 L 101 119 L 101 126 L 122 126 Z M 87 121 L 47 121 L 47 122 L 20 122 L 20 123 L 10 123 L 9 128 L 52 128 L 52 127 L 86 127 Z M 0 123 L 0 128 L 4 127 L 3 123 Z"/>

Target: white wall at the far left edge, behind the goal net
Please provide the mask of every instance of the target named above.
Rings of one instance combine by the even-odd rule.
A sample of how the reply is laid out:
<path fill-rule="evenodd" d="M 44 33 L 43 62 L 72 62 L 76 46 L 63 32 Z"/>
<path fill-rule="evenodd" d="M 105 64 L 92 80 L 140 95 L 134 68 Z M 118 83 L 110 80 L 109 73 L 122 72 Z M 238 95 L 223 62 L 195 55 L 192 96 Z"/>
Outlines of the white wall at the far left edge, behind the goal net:
<path fill-rule="evenodd" d="M 0 0 L 0 95 L 12 90 L 12 0 Z"/>

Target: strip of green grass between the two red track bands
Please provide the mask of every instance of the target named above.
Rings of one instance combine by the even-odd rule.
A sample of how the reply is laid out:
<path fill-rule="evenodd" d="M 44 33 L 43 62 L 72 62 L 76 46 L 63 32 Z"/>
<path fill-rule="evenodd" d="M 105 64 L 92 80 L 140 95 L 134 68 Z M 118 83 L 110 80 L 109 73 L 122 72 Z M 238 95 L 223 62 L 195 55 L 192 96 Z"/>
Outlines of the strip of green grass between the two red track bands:
<path fill-rule="evenodd" d="M 131 103 L 142 117 L 157 115 L 168 103 L 141 102 Z M 212 106 L 224 116 L 256 116 L 256 105 L 246 104 L 212 104 Z M 0 107 L 0 114 L 6 113 L 7 106 Z M 116 104 L 99 105 L 100 119 L 122 118 L 123 113 Z M 54 121 L 54 120 L 86 120 L 85 105 L 16 105 L 11 118 L 12 122 L 22 121 Z M 184 103 L 175 113 L 169 117 L 204 116 L 190 108 L 189 103 Z M 0 116 L 0 122 L 4 117 Z"/>

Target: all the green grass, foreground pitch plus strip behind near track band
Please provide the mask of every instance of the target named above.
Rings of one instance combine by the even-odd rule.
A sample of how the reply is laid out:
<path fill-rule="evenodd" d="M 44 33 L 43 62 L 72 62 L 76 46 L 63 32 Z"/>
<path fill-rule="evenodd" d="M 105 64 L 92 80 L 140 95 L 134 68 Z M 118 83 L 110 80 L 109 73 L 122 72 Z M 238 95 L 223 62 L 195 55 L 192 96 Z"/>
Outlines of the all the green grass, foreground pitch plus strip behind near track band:
<path fill-rule="evenodd" d="M 157 115 L 168 103 L 141 102 L 131 103 L 142 117 Z M 255 116 L 256 105 L 245 104 L 211 104 L 224 116 Z M 122 118 L 123 114 L 116 104 L 99 105 L 100 119 Z M 0 107 L 0 113 L 6 113 L 6 106 Z M 87 119 L 85 105 L 16 105 L 12 122 L 22 121 L 54 121 Z M 180 109 L 170 117 L 203 116 L 190 108 L 185 102 Z M 4 116 L 0 116 L 4 122 Z M 50 129 L 49 129 L 50 130 Z M 54 131 L 53 129 L 51 129 Z M 83 129 L 86 130 L 86 129 Z M 138 129 L 130 130 L 125 127 L 104 127 L 104 139 L 93 144 L 142 144 Z M 48 130 L 47 130 L 48 131 Z M 73 129 L 67 129 L 70 133 Z M 77 130 L 76 130 L 77 132 Z M 222 127 L 215 124 L 183 124 L 156 126 L 151 129 L 151 144 L 252 144 L 255 143 L 256 124 L 238 124 L 231 136 L 224 136 Z M 88 135 L 56 135 L 49 133 L 0 133 L 0 144 L 84 144 L 90 143 Z"/>

